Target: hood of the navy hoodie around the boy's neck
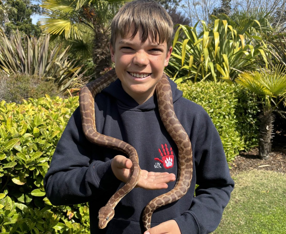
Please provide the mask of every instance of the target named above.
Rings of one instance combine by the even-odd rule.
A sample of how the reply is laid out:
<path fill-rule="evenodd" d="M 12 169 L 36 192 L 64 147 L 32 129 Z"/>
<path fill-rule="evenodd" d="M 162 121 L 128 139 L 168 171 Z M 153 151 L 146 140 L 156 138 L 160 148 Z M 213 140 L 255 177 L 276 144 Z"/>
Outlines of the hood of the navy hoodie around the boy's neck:
<path fill-rule="evenodd" d="M 181 90 L 177 89 L 177 84 L 168 78 L 173 96 L 173 103 L 176 102 L 183 94 Z M 150 97 L 146 102 L 139 105 L 129 94 L 127 94 L 122 88 L 121 81 L 117 79 L 111 83 L 107 88 L 102 90 L 102 93 L 106 93 L 117 99 L 117 103 L 124 109 L 133 109 L 134 111 L 149 111 L 158 108 L 156 91 L 154 95 Z"/>

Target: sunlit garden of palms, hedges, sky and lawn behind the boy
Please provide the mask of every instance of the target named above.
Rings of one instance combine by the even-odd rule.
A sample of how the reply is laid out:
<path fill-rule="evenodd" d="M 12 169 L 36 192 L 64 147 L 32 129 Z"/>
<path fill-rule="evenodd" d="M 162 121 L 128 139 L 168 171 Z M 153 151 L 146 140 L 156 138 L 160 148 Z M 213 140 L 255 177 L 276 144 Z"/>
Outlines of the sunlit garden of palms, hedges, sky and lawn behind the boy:
<path fill-rule="evenodd" d="M 214 233 L 286 233 L 286 1 L 159 2 L 165 73 L 212 118 L 236 183 Z M 0 0 L 0 234 L 89 233 L 88 203 L 53 206 L 43 177 L 80 87 L 113 67 L 124 3 Z"/>

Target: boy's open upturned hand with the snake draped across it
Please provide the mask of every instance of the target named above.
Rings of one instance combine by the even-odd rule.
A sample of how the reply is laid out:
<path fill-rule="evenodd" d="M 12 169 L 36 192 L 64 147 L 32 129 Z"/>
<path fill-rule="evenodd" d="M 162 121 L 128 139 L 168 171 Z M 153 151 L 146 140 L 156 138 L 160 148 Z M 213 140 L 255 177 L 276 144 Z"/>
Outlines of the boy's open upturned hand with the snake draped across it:
<path fill-rule="evenodd" d="M 131 174 L 132 162 L 123 155 L 116 155 L 111 162 L 111 169 L 117 179 L 126 183 Z M 168 172 L 148 172 L 141 170 L 141 177 L 136 188 L 142 189 L 166 189 L 167 183 L 175 181 L 176 177 L 173 173 Z"/>

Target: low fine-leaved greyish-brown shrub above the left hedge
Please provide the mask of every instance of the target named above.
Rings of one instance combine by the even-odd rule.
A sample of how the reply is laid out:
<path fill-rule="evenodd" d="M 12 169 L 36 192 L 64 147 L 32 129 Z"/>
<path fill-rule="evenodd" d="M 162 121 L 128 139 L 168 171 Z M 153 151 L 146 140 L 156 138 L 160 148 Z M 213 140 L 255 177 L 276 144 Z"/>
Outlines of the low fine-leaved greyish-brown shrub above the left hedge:
<path fill-rule="evenodd" d="M 21 102 L 22 99 L 40 98 L 58 95 L 57 86 L 53 80 L 46 80 L 45 77 L 26 74 L 0 73 L 0 100 L 6 102 Z"/>

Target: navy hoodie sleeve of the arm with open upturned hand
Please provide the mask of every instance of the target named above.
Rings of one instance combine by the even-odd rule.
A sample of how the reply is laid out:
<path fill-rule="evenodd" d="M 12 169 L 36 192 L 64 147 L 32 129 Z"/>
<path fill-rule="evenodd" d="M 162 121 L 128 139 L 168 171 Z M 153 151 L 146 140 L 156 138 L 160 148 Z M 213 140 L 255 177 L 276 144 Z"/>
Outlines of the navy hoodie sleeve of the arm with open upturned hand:
<path fill-rule="evenodd" d="M 85 203 L 107 190 L 116 191 L 120 181 L 111 170 L 111 160 L 100 160 L 98 148 L 84 136 L 77 108 L 57 143 L 44 177 L 46 196 L 53 205 Z M 109 181 L 118 183 L 111 185 Z"/>

